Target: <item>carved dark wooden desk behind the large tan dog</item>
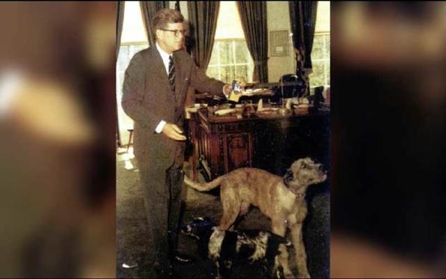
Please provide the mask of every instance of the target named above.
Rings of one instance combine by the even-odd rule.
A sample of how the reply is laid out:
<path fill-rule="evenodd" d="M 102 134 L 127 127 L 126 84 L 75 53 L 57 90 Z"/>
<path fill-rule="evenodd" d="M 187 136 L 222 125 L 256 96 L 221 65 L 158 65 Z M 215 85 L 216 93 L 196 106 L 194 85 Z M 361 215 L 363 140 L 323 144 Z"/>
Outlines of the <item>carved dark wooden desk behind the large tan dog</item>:
<path fill-rule="evenodd" d="M 294 160 L 306 156 L 329 163 L 328 110 L 216 116 L 211 108 L 203 107 L 190 116 L 194 160 L 199 160 L 206 179 L 239 167 L 283 175 Z"/>

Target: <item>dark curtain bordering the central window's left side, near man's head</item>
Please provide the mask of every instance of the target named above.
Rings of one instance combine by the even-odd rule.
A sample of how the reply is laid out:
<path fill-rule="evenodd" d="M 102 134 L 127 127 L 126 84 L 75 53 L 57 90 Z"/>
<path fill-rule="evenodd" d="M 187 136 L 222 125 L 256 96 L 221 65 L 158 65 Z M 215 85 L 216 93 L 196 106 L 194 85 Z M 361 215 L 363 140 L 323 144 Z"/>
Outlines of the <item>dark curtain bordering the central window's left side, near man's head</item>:
<path fill-rule="evenodd" d="M 197 66 L 206 70 L 214 46 L 215 29 L 217 29 L 220 1 L 189 1 L 190 38 L 187 48 Z"/>

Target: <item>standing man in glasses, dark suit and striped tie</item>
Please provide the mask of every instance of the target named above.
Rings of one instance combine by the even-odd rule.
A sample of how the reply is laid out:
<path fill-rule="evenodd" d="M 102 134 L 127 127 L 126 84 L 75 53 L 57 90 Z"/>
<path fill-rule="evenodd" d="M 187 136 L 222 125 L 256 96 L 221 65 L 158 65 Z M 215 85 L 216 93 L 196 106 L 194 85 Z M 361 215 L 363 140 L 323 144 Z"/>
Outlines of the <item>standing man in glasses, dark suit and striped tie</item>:
<path fill-rule="evenodd" d="M 156 44 L 133 56 L 123 84 L 122 105 L 134 120 L 134 155 L 160 276 L 171 272 L 171 262 L 190 262 L 177 250 L 187 89 L 226 96 L 231 90 L 207 77 L 183 50 L 183 21 L 176 10 L 155 14 Z"/>

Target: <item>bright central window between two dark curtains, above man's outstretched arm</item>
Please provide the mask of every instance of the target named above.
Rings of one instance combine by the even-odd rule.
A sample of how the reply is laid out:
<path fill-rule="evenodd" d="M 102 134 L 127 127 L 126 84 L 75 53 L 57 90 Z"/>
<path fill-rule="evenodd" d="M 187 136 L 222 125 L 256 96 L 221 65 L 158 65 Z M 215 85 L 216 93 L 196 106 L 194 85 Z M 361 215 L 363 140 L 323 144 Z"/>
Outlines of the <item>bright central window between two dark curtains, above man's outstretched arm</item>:
<path fill-rule="evenodd" d="M 215 41 L 206 74 L 222 82 L 252 82 L 254 62 L 246 45 L 235 1 L 220 1 Z"/>

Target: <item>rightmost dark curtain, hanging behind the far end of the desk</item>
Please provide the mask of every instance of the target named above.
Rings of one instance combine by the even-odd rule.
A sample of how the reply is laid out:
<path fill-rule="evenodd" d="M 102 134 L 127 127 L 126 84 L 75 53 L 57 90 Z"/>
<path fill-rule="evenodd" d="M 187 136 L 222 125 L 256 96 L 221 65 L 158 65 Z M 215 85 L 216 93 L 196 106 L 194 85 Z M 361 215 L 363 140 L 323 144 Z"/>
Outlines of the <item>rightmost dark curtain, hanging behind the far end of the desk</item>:
<path fill-rule="evenodd" d="M 305 82 L 309 96 L 309 73 L 312 73 L 312 49 L 316 27 L 317 1 L 289 1 L 291 32 L 297 61 L 296 74 Z"/>

